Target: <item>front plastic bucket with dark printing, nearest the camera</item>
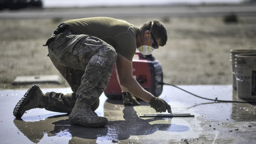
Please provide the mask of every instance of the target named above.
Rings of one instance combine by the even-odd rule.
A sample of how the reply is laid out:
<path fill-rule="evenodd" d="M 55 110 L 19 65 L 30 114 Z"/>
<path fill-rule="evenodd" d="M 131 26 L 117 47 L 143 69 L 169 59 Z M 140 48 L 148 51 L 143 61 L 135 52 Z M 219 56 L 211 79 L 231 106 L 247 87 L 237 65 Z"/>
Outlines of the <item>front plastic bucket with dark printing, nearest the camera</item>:
<path fill-rule="evenodd" d="M 256 53 L 236 54 L 235 77 L 237 96 L 244 100 L 256 99 Z"/>

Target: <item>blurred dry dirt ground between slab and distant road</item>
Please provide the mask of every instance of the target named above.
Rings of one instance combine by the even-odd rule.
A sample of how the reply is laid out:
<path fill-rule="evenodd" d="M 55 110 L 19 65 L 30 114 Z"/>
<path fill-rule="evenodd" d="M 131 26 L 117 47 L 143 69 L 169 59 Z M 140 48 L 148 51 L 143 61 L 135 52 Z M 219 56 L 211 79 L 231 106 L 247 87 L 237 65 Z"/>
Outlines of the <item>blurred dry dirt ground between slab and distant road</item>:
<path fill-rule="evenodd" d="M 123 18 L 134 25 L 158 18 Z M 13 85 L 16 76 L 59 74 L 47 57 L 46 40 L 68 19 L 0 19 L 0 89 Z M 226 24 L 223 17 L 166 17 L 167 44 L 153 56 L 161 62 L 164 82 L 175 85 L 232 84 L 230 49 L 256 48 L 256 16 L 238 17 Z M 40 84 L 40 87 L 68 87 Z"/>

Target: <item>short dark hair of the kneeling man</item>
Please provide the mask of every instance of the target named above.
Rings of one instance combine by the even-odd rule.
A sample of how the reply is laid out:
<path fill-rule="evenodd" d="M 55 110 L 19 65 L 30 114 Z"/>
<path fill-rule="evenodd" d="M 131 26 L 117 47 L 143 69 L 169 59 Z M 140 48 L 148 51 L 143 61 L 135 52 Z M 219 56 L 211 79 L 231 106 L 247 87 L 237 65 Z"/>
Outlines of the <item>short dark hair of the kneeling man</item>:
<path fill-rule="evenodd" d="M 148 21 L 145 24 L 140 26 L 141 32 L 145 32 L 148 29 L 150 29 L 152 21 Z M 167 41 L 167 31 L 163 23 L 161 23 L 158 20 L 154 20 L 152 23 L 152 29 L 151 32 L 153 33 L 155 39 L 160 39 L 161 43 L 159 43 L 160 46 L 166 45 Z"/>

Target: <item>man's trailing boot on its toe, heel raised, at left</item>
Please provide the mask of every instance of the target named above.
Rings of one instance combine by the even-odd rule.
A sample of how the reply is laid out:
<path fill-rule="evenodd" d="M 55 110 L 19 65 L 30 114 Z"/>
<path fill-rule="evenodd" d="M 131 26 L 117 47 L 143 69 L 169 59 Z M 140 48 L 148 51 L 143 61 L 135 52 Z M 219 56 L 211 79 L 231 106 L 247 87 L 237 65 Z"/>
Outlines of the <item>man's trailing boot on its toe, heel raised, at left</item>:
<path fill-rule="evenodd" d="M 38 85 L 34 84 L 31 86 L 22 99 L 19 100 L 13 110 L 13 115 L 17 118 L 23 116 L 26 110 L 33 108 L 45 108 L 46 99 L 43 100 L 44 94 Z"/>

